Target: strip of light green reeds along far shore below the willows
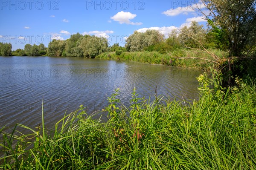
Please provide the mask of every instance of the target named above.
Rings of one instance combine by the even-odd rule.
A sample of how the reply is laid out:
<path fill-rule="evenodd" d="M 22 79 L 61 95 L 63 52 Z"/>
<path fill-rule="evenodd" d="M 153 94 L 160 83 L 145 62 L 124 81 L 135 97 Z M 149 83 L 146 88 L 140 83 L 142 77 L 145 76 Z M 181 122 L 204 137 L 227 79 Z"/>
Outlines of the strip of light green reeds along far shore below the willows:
<path fill-rule="evenodd" d="M 216 49 L 209 51 L 218 54 L 219 56 L 224 56 L 224 54 Z M 177 59 L 190 57 L 189 59 Z M 198 50 L 192 49 L 175 49 L 166 54 L 161 54 L 160 52 L 122 52 L 120 55 L 116 55 L 116 52 L 104 52 L 96 58 L 108 59 L 108 60 L 125 60 L 125 61 L 137 61 L 141 63 L 150 64 L 162 64 L 167 66 L 178 66 L 178 67 L 190 67 L 190 68 L 209 68 L 211 63 L 207 63 L 202 59 L 193 58 L 209 58 L 208 54 L 204 52 L 199 52 Z"/>

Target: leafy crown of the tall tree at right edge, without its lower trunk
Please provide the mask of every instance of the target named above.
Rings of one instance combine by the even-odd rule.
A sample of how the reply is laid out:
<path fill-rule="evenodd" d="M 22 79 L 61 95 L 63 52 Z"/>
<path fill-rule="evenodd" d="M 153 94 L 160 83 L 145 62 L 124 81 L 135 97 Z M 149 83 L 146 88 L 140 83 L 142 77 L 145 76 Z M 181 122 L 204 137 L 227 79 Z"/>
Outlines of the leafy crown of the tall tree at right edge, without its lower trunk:
<path fill-rule="evenodd" d="M 253 52 L 256 42 L 255 0 L 202 0 L 210 11 L 212 34 L 229 57 L 244 58 Z M 255 49 L 254 49 L 255 50 Z"/>

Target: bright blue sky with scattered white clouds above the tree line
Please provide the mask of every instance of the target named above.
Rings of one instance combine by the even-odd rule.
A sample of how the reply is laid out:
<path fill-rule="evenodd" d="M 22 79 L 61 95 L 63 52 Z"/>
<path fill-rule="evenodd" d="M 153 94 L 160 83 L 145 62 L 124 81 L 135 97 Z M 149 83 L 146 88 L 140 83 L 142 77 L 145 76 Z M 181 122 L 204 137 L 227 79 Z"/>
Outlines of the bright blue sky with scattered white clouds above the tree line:
<path fill-rule="evenodd" d="M 205 24 L 193 9 L 194 0 L 0 0 L 0 42 L 12 43 L 12 50 L 48 46 L 79 32 L 124 46 L 135 30 L 157 29 L 168 37 L 192 20 Z"/>

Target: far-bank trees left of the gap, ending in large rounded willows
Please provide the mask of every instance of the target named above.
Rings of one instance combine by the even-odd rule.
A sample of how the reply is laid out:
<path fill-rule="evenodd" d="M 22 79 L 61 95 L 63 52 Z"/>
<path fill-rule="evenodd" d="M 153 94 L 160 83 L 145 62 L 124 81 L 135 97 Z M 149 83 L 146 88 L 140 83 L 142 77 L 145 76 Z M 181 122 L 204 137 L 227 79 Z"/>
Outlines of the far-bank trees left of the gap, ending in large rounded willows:
<path fill-rule="evenodd" d="M 104 37 L 91 35 L 81 35 L 79 33 L 71 35 L 67 40 L 53 39 L 48 48 L 43 43 L 39 45 L 26 44 L 24 49 L 12 51 L 11 43 L 0 43 L 0 55 L 2 56 L 69 56 L 95 58 L 102 52 L 108 51 L 108 40 Z"/>

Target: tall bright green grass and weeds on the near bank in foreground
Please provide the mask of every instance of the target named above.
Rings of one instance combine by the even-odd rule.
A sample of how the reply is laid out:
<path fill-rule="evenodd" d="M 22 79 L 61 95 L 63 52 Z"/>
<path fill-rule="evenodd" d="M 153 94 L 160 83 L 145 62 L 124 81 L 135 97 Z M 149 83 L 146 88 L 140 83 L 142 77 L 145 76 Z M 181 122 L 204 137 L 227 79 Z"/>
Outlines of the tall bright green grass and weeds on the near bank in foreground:
<path fill-rule="evenodd" d="M 0 131 L 2 169 L 21 170 L 253 170 L 256 169 L 256 85 L 223 89 L 221 75 L 198 77 L 200 99 L 192 104 L 153 96 L 129 107 L 119 89 L 104 109 L 108 121 L 81 106 L 53 130 L 17 124 Z M 101 113 L 97 113 L 101 114 Z M 44 124 L 42 113 L 42 125 Z M 19 128 L 31 134 L 14 135 Z"/>

